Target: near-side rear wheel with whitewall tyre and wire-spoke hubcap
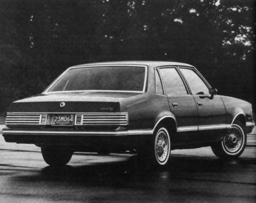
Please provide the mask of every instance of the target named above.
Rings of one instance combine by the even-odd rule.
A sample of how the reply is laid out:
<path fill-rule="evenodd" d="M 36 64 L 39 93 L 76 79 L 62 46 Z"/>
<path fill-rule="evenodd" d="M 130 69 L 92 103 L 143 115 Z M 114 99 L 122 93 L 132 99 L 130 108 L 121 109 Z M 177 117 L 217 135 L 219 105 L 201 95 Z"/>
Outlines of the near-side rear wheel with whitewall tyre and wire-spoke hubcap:
<path fill-rule="evenodd" d="M 154 132 L 154 162 L 167 165 L 171 153 L 171 140 L 166 127 L 160 125 Z"/>

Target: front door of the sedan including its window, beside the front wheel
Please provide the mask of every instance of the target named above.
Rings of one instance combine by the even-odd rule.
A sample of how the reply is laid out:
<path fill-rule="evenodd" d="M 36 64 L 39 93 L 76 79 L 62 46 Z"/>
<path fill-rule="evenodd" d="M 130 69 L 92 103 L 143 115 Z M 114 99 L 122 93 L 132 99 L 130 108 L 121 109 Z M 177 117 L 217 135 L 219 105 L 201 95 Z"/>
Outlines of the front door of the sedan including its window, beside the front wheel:
<path fill-rule="evenodd" d="M 180 67 L 179 70 L 185 77 L 197 105 L 198 130 L 202 141 L 216 140 L 216 135 L 226 129 L 226 110 L 221 97 L 209 95 L 211 87 L 195 69 Z"/>

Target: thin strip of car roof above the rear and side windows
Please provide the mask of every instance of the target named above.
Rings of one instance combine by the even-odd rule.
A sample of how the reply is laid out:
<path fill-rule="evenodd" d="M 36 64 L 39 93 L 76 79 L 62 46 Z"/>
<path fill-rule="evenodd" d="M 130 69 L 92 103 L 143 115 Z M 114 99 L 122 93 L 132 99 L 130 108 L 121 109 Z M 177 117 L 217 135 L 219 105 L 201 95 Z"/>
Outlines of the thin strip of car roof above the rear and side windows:
<path fill-rule="evenodd" d="M 193 67 L 187 63 L 173 62 L 173 61 L 112 61 L 112 62 L 97 62 L 97 63 L 85 63 L 76 65 L 74 67 L 83 66 L 97 66 L 97 65 L 112 65 L 112 64 L 128 64 L 128 65 L 144 65 L 149 67 L 159 67 L 159 66 L 188 66 Z"/>

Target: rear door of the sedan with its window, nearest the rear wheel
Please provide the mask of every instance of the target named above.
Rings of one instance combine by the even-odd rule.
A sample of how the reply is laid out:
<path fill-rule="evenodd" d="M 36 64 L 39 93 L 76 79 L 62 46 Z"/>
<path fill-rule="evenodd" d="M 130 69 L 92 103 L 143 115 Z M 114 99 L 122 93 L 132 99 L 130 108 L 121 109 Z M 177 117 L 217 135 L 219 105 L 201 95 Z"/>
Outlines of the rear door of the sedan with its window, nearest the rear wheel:
<path fill-rule="evenodd" d="M 159 68 L 164 85 L 164 93 L 168 97 L 170 111 L 175 115 L 178 136 L 176 143 L 199 141 L 198 113 L 194 97 L 189 94 L 185 81 L 176 67 Z"/>

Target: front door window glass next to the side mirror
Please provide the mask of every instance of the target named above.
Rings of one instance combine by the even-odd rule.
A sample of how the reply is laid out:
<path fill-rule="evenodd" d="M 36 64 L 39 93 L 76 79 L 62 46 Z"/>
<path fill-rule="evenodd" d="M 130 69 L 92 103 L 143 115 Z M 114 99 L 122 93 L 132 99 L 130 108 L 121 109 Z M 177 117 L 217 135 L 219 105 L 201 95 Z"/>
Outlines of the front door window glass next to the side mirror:
<path fill-rule="evenodd" d="M 180 71 L 186 78 L 188 85 L 190 87 L 191 93 L 193 95 L 207 95 L 209 93 L 208 87 L 194 70 L 187 69 L 187 68 L 180 68 Z"/>

